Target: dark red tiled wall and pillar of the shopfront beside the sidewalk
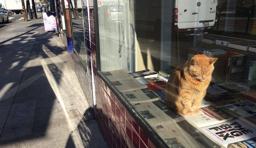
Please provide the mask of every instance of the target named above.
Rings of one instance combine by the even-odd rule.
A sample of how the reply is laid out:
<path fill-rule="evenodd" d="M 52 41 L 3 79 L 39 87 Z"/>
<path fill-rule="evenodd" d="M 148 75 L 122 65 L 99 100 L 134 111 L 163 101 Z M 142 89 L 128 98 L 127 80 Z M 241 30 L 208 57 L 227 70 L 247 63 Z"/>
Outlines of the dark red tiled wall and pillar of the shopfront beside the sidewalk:
<path fill-rule="evenodd" d="M 75 70 L 79 82 L 85 92 L 88 102 L 92 105 L 92 86 L 91 86 L 91 64 L 95 77 L 96 93 L 96 119 L 101 128 L 102 134 L 109 147 L 114 148 L 154 148 L 154 144 L 141 130 L 132 116 L 127 112 L 119 99 L 106 86 L 102 79 L 97 75 L 96 63 L 96 41 L 94 26 L 93 0 L 89 1 L 89 15 L 84 14 L 84 21 L 90 21 L 89 26 L 85 23 L 85 43 L 87 52 L 87 66 L 79 61 L 75 55 Z M 84 10 L 86 13 L 87 10 Z M 88 16 L 90 18 L 88 18 Z M 88 31 L 87 31 L 88 30 Z M 88 32 L 90 31 L 90 39 Z M 90 43 L 90 44 L 88 44 Z M 90 58 L 91 57 L 91 58 Z M 92 59 L 92 61 L 90 61 Z"/>

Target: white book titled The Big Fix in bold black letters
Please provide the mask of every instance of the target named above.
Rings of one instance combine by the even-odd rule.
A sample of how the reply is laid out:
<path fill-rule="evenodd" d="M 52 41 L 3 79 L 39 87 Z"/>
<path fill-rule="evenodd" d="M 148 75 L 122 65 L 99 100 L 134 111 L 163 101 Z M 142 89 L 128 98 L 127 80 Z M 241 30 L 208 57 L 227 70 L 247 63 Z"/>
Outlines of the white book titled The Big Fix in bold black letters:
<path fill-rule="evenodd" d="M 227 121 L 200 129 L 225 147 L 230 143 L 256 137 L 255 129 L 240 120 Z"/>

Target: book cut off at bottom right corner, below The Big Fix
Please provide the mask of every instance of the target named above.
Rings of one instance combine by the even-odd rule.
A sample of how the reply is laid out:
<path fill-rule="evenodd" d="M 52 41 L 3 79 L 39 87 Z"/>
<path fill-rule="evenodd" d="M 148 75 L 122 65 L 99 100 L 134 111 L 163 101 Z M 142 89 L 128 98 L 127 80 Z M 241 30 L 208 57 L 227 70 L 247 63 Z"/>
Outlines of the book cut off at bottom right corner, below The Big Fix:
<path fill-rule="evenodd" d="M 256 148 L 256 138 L 230 143 L 227 148 Z"/>

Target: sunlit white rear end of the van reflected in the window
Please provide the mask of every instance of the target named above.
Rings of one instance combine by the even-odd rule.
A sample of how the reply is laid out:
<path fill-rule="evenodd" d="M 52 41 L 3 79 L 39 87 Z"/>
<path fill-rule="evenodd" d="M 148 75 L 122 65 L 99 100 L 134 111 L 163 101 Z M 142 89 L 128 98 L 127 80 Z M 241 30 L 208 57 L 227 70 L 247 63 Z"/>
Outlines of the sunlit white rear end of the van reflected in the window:
<path fill-rule="evenodd" d="M 218 0 L 176 0 L 173 23 L 177 31 L 212 29 L 217 22 Z"/>

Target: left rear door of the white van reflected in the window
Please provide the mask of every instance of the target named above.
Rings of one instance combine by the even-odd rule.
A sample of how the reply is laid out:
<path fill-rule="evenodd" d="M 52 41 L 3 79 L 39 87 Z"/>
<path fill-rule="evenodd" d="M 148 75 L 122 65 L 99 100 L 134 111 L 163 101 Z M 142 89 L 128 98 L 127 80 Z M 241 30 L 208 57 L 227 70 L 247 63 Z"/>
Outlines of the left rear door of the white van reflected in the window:
<path fill-rule="evenodd" d="M 199 0 L 176 0 L 175 8 L 178 8 L 178 28 L 196 28 Z"/>

